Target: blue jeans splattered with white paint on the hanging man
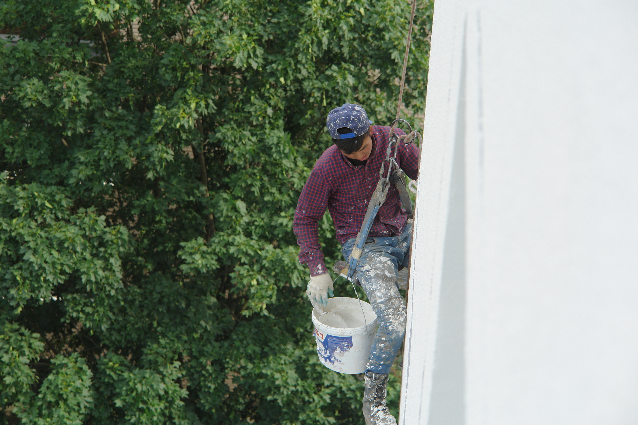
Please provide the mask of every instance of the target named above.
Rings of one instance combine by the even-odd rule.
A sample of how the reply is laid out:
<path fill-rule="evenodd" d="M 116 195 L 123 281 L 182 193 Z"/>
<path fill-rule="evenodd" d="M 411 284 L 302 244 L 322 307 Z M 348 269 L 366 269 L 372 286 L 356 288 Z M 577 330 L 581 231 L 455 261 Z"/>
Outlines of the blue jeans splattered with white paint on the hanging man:
<path fill-rule="evenodd" d="M 390 371 L 405 335 L 406 308 L 397 287 L 397 271 L 409 266 L 411 238 L 411 223 L 398 236 L 367 238 L 357 266 L 357 277 L 379 325 L 367 361 L 367 370 L 374 373 Z M 346 261 L 354 244 L 355 238 L 343 244 L 341 253 Z"/>

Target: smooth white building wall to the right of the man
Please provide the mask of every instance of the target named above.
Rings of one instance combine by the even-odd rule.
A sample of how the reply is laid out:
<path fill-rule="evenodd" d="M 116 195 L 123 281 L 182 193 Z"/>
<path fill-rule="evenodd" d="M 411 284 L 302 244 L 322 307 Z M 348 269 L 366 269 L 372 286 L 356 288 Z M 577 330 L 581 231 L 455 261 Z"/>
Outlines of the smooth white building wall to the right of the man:
<path fill-rule="evenodd" d="M 403 425 L 638 424 L 638 2 L 436 0 Z"/>

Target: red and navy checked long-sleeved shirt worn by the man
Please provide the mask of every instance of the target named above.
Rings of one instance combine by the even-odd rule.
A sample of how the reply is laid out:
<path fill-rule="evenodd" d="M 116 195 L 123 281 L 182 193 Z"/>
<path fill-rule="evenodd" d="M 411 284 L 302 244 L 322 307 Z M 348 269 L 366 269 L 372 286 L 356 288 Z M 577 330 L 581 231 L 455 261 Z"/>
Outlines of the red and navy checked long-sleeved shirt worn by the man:
<path fill-rule="evenodd" d="M 404 134 L 401 129 L 396 134 Z M 353 166 L 336 145 L 327 148 L 315 163 L 299 195 L 293 229 L 301 248 L 299 263 L 308 264 L 310 275 L 327 273 L 319 245 L 317 222 L 326 208 L 330 212 L 337 240 L 345 243 L 357 237 L 366 215 L 367 204 L 379 181 L 379 169 L 385 159 L 390 127 L 372 126 L 373 152 L 364 166 Z M 397 163 L 410 178 L 417 178 L 419 148 L 399 143 Z M 387 170 L 387 169 L 386 169 Z M 399 191 L 390 185 L 385 203 L 375 217 L 369 236 L 392 236 L 403 230 L 407 214 L 401 208 Z"/>

